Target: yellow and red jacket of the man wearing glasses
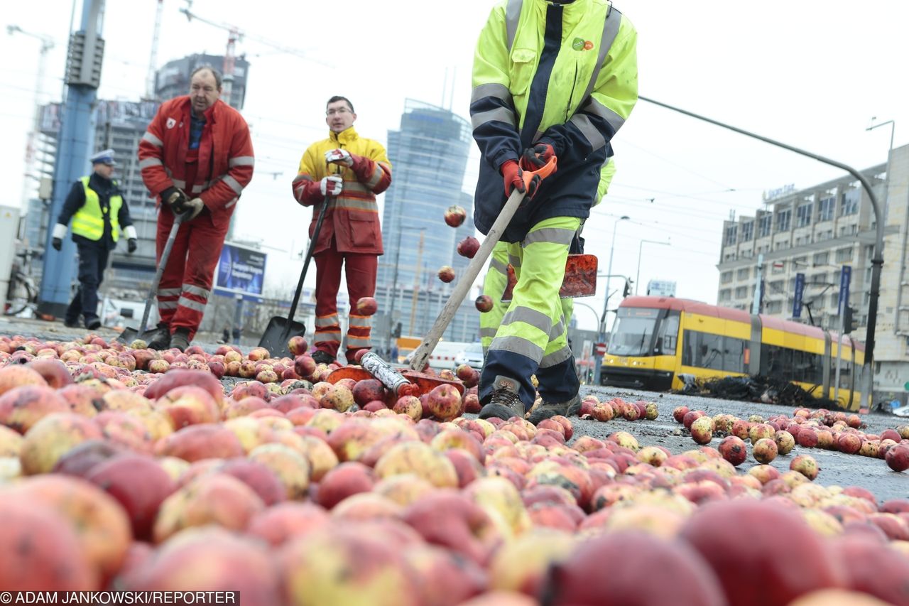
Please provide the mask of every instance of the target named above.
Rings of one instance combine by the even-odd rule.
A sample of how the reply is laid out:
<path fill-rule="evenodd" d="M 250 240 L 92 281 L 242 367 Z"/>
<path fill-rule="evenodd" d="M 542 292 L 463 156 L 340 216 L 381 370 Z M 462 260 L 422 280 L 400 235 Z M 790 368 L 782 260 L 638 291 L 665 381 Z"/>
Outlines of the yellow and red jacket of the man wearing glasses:
<path fill-rule="evenodd" d="M 325 152 L 346 149 L 354 159 L 353 167 L 325 165 Z M 385 154 L 385 147 L 377 141 L 356 134 L 351 126 L 340 133 L 330 133 L 327 139 L 317 141 L 306 149 L 300 160 L 300 169 L 294 179 L 294 197 L 305 207 L 313 207 L 309 237 L 315 231 L 325 197 L 319 190 L 323 177 L 340 175 L 344 178 L 341 195 L 325 211 L 325 222 L 315 243 L 315 253 L 331 245 L 335 237 L 338 252 L 356 252 L 381 255 L 382 229 L 375 195 L 391 185 L 392 165 Z"/>

